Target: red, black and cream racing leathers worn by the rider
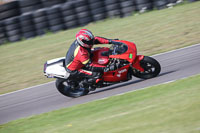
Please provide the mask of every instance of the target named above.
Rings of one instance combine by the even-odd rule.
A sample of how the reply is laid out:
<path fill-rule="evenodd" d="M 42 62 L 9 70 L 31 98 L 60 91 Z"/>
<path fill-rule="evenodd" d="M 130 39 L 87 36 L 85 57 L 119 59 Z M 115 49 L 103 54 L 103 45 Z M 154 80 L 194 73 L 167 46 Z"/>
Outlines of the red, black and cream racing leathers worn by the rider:
<path fill-rule="evenodd" d="M 102 37 L 95 37 L 94 44 L 109 44 L 109 40 Z M 82 69 L 83 67 L 86 66 L 86 64 L 90 62 L 90 51 L 91 49 L 84 48 L 81 45 L 79 45 L 77 41 L 74 41 L 70 46 L 66 55 L 65 59 L 66 70 L 69 73 L 78 72 L 84 75 L 86 74 L 88 76 L 91 76 L 92 71 Z M 91 67 L 102 68 L 104 66 L 90 66 L 90 68 Z"/>

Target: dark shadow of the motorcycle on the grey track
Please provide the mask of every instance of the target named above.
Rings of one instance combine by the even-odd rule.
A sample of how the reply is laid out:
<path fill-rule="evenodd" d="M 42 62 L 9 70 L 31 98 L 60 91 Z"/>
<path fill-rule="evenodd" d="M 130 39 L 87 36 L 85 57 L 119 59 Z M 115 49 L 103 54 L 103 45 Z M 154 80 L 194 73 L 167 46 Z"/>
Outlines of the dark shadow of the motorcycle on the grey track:
<path fill-rule="evenodd" d="M 177 70 L 173 70 L 173 71 L 168 71 L 168 72 L 164 72 L 164 73 L 161 73 L 160 75 L 158 75 L 157 77 L 155 77 L 156 79 L 159 79 L 159 77 L 162 77 L 162 76 L 166 76 L 168 74 L 171 74 L 171 73 L 174 73 L 176 72 Z M 152 78 L 154 79 L 154 78 Z M 145 80 L 149 80 L 149 79 L 136 79 L 136 80 L 131 80 L 129 82 L 122 82 L 122 83 L 119 83 L 119 84 L 115 84 L 115 85 L 111 85 L 109 87 L 105 87 L 105 89 L 101 89 L 101 90 L 98 90 L 95 91 L 95 92 L 91 92 L 89 93 L 88 95 L 92 95 L 92 94 L 97 94 L 97 93 L 101 93 L 101 92 L 104 92 L 104 91 L 109 91 L 109 90 L 113 90 L 113 89 L 117 89 L 117 88 L 120 88 L 120 87 L 124 87 L 124 86 L 128 86 L 128 85 L 134 85 L 136 83 L 140 83 L 142 81 L 145 81 Z"/>

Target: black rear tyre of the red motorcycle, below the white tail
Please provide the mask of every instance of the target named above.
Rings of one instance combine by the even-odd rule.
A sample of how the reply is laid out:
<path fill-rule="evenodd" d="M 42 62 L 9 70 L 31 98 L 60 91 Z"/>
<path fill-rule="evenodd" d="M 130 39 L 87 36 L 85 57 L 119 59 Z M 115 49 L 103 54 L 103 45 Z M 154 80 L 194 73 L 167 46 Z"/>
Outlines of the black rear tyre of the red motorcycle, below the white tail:
<path fill-rule="evenodd" d="M 85 88 L 76 88 L 76 89 L 71 88 L 70 86 L 67 85 L 65 79 L 57 79 L 56 88 L 61 94 L 73 98 L 84 96 L 89 93 L 89 90 Z"/>

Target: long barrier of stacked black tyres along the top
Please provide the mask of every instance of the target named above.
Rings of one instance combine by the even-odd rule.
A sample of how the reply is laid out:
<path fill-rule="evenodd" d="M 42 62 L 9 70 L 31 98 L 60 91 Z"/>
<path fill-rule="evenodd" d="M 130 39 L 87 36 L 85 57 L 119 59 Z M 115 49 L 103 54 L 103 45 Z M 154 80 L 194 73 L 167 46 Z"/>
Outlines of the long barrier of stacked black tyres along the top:
<path fill-rule="evenodd" d="M 0 5 L 0 44 L 90 22 L 164 9 L 181 0 L 17 0 Z M 195 2 L 198 0 L 187 0 Z"/>

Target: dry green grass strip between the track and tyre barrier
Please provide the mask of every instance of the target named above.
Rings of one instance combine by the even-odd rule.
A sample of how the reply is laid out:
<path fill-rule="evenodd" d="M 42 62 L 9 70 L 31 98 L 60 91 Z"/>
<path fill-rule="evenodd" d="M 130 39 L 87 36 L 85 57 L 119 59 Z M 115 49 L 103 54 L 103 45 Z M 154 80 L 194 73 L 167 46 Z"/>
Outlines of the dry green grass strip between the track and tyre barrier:
<path fill-rule="evenodd" d="M 200 2 L 91 23 L 95 35 L 134 41 L 140 54 L 152 55 L 200 42 Z M 0 94 L 51 81 L 45 61 L 65 56 L 83 27 L 0 46 Z"/>

